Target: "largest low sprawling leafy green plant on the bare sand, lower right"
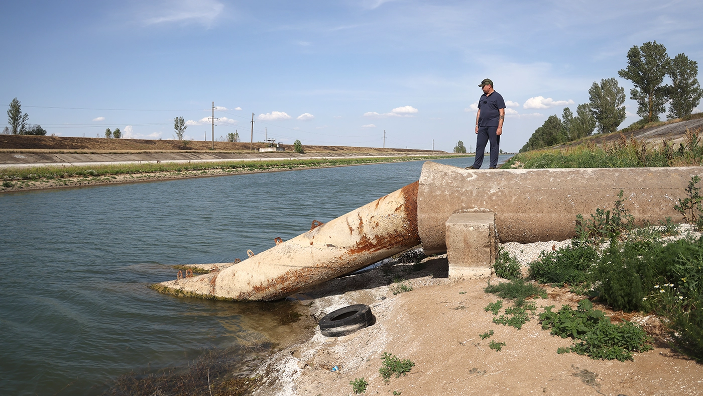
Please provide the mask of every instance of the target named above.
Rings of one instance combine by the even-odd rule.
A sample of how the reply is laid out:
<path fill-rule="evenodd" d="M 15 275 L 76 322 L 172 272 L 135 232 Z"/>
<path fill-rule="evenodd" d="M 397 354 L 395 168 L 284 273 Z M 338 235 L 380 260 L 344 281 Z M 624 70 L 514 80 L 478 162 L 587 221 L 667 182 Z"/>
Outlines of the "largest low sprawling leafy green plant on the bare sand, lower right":
<path fill-rule="evenodd" d="M 539 316 L 542 328 L 561 338 L 573 338 L 574 345 L 569 352 L 586 355 L 591 359 L 618 359 L 621 362 L 632 360 L 632 352 L 645 352 L 652 349 L 650 337 L 645 331 L 630 321 L 612 324 L 602 311 L 593 309 L 589 300 L 579 301 L 576 310 L 568 305 L 558 312 L 552 312 L 554 305 L 544 308 Z M 564 349 L 558 353 L 566 353 Z"/>

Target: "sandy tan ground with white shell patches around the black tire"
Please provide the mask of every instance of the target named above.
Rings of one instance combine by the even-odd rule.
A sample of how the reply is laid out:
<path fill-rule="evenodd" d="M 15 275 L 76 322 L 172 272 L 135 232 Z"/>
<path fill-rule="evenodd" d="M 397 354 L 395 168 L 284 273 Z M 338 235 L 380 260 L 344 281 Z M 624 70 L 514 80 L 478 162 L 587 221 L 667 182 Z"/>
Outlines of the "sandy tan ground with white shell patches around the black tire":
<path fill-rule="evenodd" d="M 504 247 L 527 263 L 541 250 L 566 243 Z M 636 354 L 633 362 L 557 355 L 557 348 L 571 340 L 550 336 L 537 317 L 521 330 L 493 323 L 494 315 L 484 307 L 498 298 L 484 293 L 486 280 L 448 279 L 445 256 L 427 258 L 424 264 L 419 269 L 387 262 L 297 295 L 312 319 L 366 304 L 375 324 L 340 338 L 322 336 L 316 328 L 309 340 L 281 350 L 259 369 L 264 386 L 254 395 L 353 395 L 349 382 L 361 377 L 368 381 L 366 395 L 703 395 L 703 365 L 666 347 L 654 317 L 631 318 L 657 335 L 654 350 Z M 394 295 L 394 280 L 413 290 Z M 537 312 L 548 305 L 576 307 L 579 300 L 558 288 L 548 288 L 548 295 L 535 300 Z M 481 340 L 479 334 L 489 330 L 494 336 Z M 505 346 L 491 350 L 491 340 Z M 415 366 L 386 383 L 378 373 L 383 352 Z M 338 370 L 332 371 L 335 366 Z"/>

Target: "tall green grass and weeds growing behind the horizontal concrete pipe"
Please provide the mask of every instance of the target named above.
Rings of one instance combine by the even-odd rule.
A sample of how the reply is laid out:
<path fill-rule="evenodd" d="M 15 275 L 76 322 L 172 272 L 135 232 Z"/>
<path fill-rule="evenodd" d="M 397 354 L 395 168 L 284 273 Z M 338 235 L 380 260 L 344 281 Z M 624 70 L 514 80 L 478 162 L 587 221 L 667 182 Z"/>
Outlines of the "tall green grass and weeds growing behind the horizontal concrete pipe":
<path fill-rule="evenodd" d="M 519 153 L 501 168 L 701 166 L 703 144 L 700 134 L 701 128 L 687 129 L 683 143 L 676 145 L 666 140 L 652 145 L 633 138 L 626 139 L 621 134 L 617 141 L 602 146 L 585 143 L 559 150 L 542 149 Z"/>

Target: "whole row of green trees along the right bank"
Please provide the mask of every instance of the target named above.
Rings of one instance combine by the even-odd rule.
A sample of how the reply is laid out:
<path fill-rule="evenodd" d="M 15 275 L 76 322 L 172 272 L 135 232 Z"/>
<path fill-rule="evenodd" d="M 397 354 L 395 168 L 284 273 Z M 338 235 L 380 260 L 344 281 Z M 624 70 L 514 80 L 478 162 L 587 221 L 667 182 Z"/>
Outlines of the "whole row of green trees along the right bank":
<path fill-rule="evenodd" d="M 642 117 L 631 127 L 659 121 L 667 103 L 669 120 L 688 117 L 703 97 L 697 79 L 698 63 L 684 53 L 669 58 L 666 47 L 657 41 L 632 46 L 627 52 L 627 67 L 619 70 L 618 75 L 633 83 L 630 98 L 637 102 L 637 115 Z M 664 84 L 666 76 L 671 84 Z M 594 130 L 600 134 L 616 132 L 626 117 L 625 98 L 625 89 L 618 86 L 614 77 L 593 82 L 588 89 L 588 103 L 576 106 L 575 116 L 570 108 L 564 109 L 562 118 L 550 115 L 520 153 L 582 139 Z"/>

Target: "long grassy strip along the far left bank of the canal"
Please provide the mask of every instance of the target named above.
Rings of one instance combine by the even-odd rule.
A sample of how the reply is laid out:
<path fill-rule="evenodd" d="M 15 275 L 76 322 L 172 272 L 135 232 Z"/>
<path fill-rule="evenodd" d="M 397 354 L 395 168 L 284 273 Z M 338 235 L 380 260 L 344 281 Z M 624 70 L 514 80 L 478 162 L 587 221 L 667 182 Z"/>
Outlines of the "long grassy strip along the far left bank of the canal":
<path fill-rule="evenodd" d="M 152 163 L 86 166 L 11 167 L 0 169 L 0 191 L 53 188 L 79 184 L 105 184 L 134 179 L 160 179 L 214 176 L 217 174 L 299 170 L 311 167 L 339 167 L 383 162 L 405 162 L 454 158 L 463 155 L 423 155 L 420 157 L 335 158 L 301 160 L 247 160 L 197 163 Z M 44 187 L 42 187 L 44 186 Z"/>

